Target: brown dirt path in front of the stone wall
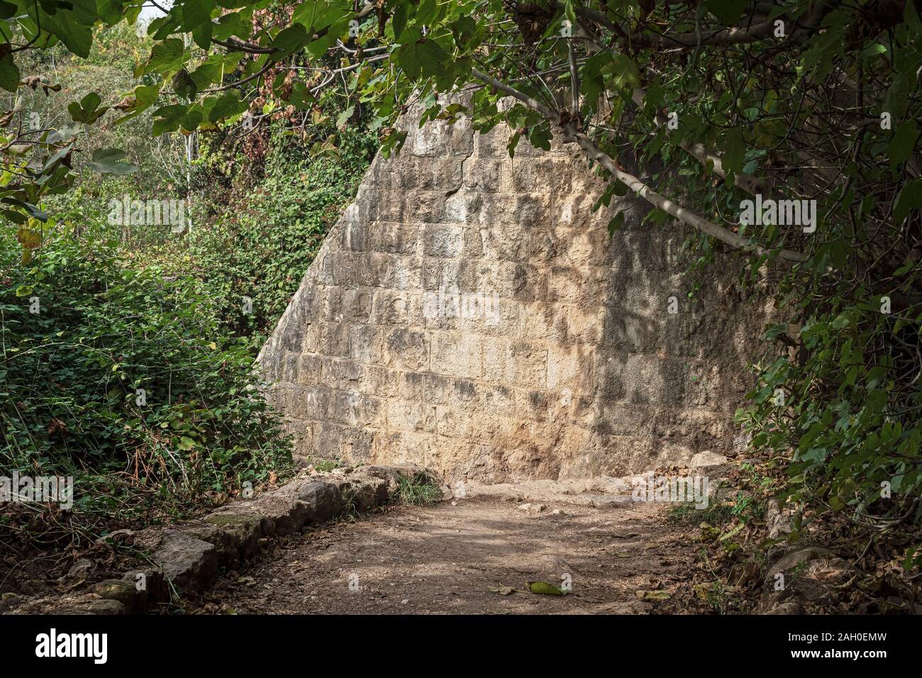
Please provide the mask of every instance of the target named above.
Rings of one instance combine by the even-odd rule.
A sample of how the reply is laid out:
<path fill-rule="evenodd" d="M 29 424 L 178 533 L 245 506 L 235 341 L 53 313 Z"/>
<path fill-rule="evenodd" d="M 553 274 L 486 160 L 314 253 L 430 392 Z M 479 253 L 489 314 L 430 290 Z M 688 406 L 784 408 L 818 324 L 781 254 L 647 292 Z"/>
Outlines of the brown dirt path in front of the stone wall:
<path fill-rule="evenodd" d="M 674 589 L 690 569 L 661 506 L 519 506 L 479 496 L 323 526 L 222 578 L 199 612 L 646 613 L 636 591 Z M 566 597 L 490 590 L 564 574 Z"/>

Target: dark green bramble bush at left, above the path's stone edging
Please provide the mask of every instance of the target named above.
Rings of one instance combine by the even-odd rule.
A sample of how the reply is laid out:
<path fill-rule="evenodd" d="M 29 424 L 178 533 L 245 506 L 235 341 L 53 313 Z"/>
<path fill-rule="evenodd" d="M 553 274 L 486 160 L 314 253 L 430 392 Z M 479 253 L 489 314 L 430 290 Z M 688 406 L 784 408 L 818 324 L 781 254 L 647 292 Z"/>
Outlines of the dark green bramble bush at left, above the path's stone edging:
<path fill-rule="evenodd" d="M 77 507 L 106 512 L 125 510 L 112 483 L 178 501 L 288 468 L 252 357 L 195 280 L 128 268 L 113 242 L 65 225 L 28 267 L 0 237 L 5 469 L 78 476 Z"/>

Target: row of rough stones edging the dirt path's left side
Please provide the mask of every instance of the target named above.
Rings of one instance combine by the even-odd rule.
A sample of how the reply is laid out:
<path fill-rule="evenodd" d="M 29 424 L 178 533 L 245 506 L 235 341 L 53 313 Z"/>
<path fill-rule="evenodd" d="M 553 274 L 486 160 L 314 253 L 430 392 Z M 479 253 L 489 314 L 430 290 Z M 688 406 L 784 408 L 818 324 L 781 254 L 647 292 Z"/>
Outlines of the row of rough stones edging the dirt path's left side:
<path fill-rule="evenodd" d="M 415 466 L 367 466 L 345 472 L 306 471 L 277 490 L 222 506 L 181 525 L 117 530 L 105 539 L 149 554 L 150 565 L 73 594 L 44 596 L 13 613 L 136 614 L 211 588 L 219 572 L 260 552 L 261 542 L 349 511 L 369 511 L 396 495 L 401 478 L 428 473 Z"/>

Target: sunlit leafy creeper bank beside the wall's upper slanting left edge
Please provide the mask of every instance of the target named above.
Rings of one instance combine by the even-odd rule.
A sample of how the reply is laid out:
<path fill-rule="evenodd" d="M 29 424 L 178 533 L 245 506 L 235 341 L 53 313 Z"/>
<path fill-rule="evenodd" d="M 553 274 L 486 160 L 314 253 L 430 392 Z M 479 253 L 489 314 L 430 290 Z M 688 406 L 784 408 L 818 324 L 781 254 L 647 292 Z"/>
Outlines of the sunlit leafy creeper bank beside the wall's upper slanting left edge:
<path fill-rule="evenodd" d="M 254 347 L 297 291 L 376 149 L 361 122 L 337 133 L 336 153 L 313 156 L 284 125 L 270 130 L 256 178 L 255 163 L 244 152 L 232 161 L 220 146 L 203 152 L 193 180 L 194 188 L 203 188 L 195 193 L 195 226 L 146 255 L 202 280 L 225 326 L 252 336 Z M 327 138 L 336 132 L 314 125 L 306 133 Z"/>

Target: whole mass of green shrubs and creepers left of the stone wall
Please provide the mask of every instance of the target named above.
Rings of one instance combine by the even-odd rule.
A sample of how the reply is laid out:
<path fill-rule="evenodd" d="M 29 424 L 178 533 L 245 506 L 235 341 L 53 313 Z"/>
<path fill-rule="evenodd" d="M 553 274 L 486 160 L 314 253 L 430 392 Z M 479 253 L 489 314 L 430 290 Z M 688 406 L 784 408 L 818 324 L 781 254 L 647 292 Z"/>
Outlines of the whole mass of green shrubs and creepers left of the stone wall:
<path fill-rule="evenodd" d="M 26 89 L 22 114 L 58 126 L 100 81 L 130 89 L 149 45 L 117 29 L 99 31 L 89 64 L 60 45 L 34 59 L 60 89 Z M 6 474 L 74 475 L 81 515 L 130 519 L 290 468 L 253 358 L 376 147 L 361 113 L 337 127 L 327 108 L 298 134 L 267 116 L 242 137 L 193 138 L 192 164 L 183 137 L 149 135 L 149 112 L 82 137 L 128 149 L 136 170 L 77 160 L 75 189 L 41 203 L 52 220 L 2 233 Z M 151 198 L 182 201 L 193 228 L 112 221 L 112 201 Z"/>

